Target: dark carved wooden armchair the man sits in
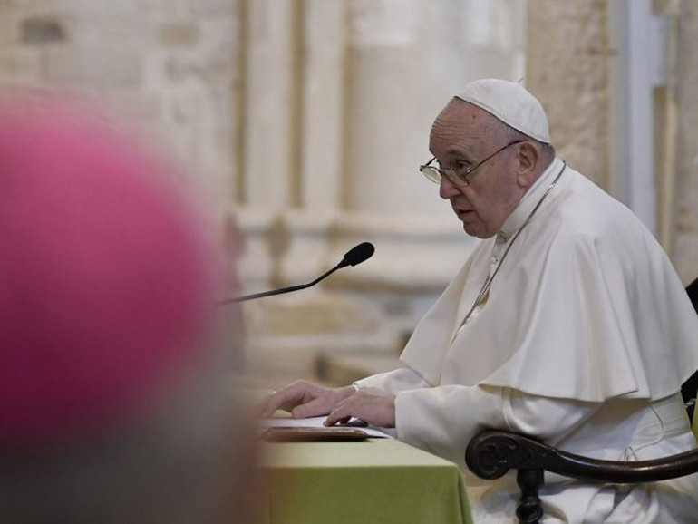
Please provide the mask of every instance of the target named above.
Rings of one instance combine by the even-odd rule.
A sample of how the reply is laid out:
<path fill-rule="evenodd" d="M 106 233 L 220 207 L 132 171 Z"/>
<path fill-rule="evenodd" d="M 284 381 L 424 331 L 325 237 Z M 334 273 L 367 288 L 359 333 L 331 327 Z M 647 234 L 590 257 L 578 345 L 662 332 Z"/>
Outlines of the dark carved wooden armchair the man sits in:
<path fill-rule="evenodd" d="M 698 313 L 698 279 L 686 287 L 686 292 Z M 697 389 L 698 372 L 682 387 L 689 416 L 693 414 Z M 693 420 L 693 432 L 698 436 L 698 418 Z M 470 441 L 465 462 L 470 471 L 486 480 L 499 479 L 509 470 L 516 470 L 521 492 L 516 515 L 521 524 L 536 524 L 543 517 L 538 490 L 544 482 L 544 471 L 614 484 L 656 482 L 698 472 L 698 450 L 653 461 L 600 461 L 557 450 L 526 435 L 487 430 Z"/>

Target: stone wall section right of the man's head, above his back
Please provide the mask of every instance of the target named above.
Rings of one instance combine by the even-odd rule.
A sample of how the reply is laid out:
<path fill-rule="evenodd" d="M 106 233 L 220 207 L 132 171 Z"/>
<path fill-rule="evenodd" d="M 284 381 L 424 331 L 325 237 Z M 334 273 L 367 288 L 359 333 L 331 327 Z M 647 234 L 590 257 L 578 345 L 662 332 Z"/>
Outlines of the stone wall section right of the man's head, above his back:
<path fill-rule="evenodd" d="M 630 7 L 635 15 L 647 12 L 639 21 L 628 20 Z M 628 25 L 633 23 L 641 25 Z M 654 225 L 683 283 L 693 281 L 698 277 L 698 142 L 693 139 L 698 134 L 698 5 L 691 0 L 528 0 L 527 42 L 526 83 L 548 111 L 559 156 Z M 629 63 L 632 54 L 635 64 Z M 631 71 L 638 63 L 645 70 Z M 637 105 L 643 98 L 650 107 Z M 645 111 L 651 118 L 635 118 Z M 628 139 L 643 132 L 649 133 L 646 143 Z M 649 171 L 646 180 L 639 180 L 638 168 Z M 643 192 L 654 201 L 643 204 Z"/>

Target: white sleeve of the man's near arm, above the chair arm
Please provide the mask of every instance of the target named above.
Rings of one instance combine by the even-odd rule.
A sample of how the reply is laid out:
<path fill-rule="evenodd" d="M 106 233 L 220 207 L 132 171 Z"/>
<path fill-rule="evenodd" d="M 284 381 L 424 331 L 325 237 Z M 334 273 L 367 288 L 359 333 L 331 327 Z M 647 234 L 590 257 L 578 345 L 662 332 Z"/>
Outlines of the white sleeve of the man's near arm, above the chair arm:
<path fill-rule="evenodd" d="M 555 444 L 600 406 L 489 386 L 442 385 L 397 393 L 398 438 L 464 465 L 470 439 L 485 429 L 527 433 Z"/>

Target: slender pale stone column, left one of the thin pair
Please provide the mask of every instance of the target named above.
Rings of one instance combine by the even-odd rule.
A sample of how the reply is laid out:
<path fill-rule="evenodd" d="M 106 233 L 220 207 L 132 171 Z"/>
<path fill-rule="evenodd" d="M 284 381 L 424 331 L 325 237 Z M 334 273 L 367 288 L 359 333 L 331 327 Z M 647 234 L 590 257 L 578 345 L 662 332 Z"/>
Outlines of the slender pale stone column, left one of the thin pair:
<path fill-rule="evenodd" d="M 242 180 L 236 215 L 245 237 L 241 280 L 245 291 L 252 292 L 275 283 L 283 243 L 274 227 L 294 194 L 298 0 L 240 1 L 244 93 L 239 100 Z"/>

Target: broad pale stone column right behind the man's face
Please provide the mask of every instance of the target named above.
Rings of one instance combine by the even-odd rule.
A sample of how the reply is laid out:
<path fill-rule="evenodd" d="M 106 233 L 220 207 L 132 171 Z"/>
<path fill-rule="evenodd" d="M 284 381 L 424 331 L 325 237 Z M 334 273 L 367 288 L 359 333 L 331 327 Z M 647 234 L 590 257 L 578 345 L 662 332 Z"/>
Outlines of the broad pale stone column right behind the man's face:
<path fill-rule="evenodd" d="M 374 239 L 380 257 L 338 277 L 347 286 L 364 281 L 434 296 L 468 256 L 474 240 L 418 166 L 431 158 L 431 122 L 464 83 L 521 75 L 524 6 L 350 3 L 348 153 L 337 238 Z"/>

